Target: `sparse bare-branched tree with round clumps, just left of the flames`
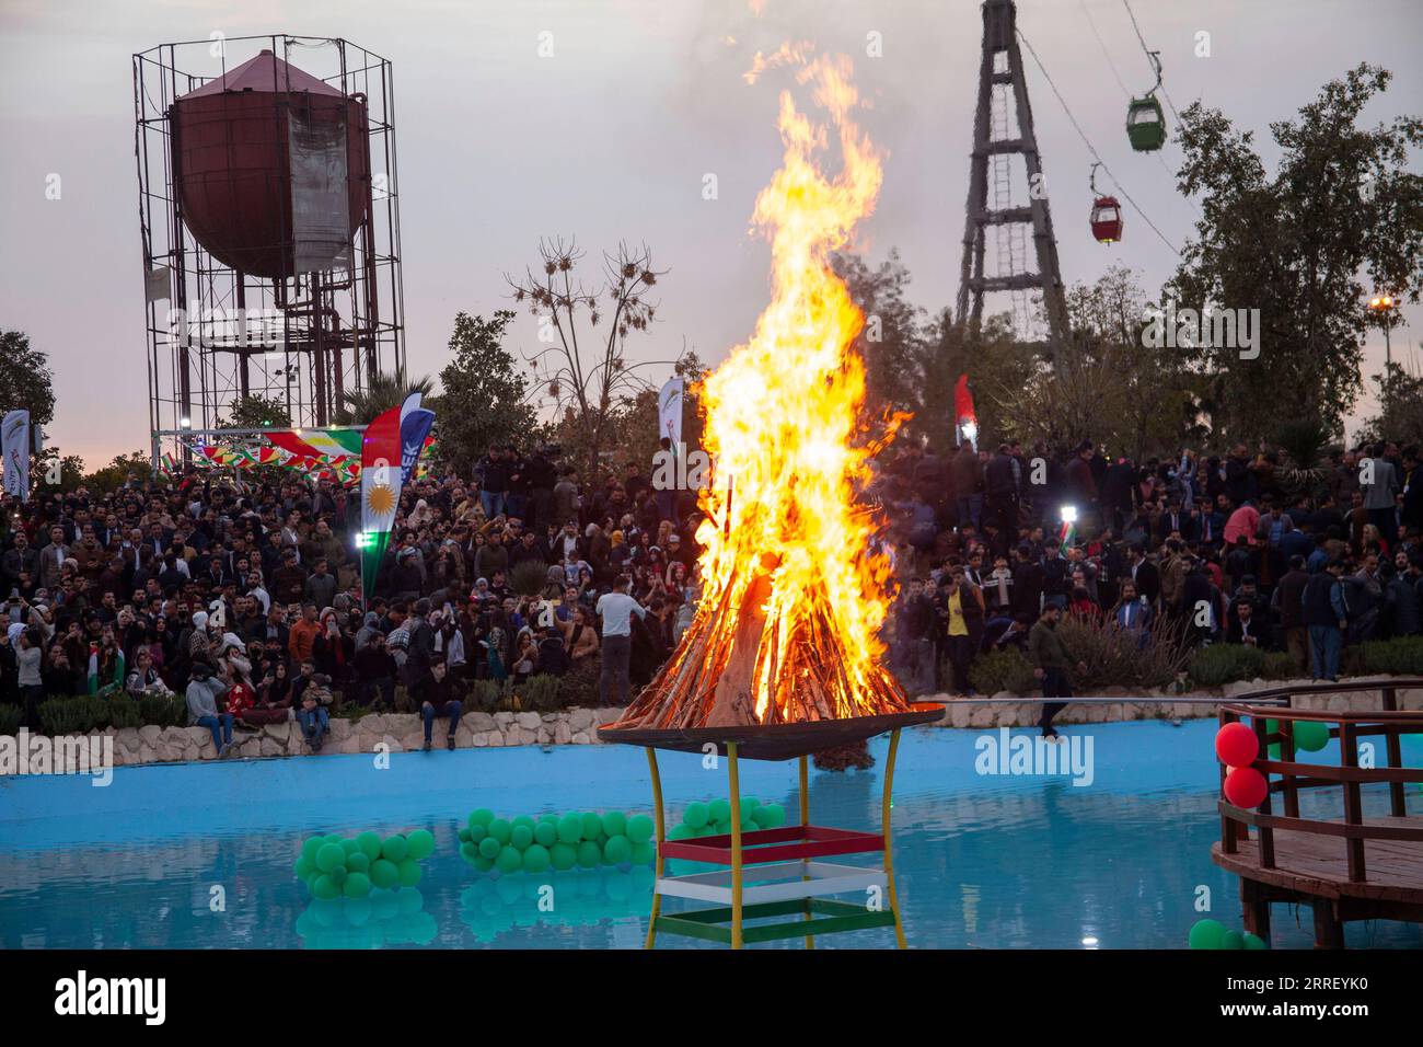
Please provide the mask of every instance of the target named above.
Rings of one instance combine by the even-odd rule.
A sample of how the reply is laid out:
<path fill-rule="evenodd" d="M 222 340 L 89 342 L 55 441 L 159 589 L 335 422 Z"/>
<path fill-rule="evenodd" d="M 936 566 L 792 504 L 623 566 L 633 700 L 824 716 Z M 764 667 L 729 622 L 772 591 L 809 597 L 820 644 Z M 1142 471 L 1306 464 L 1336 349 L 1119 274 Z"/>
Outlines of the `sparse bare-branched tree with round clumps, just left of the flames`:
<path fill-rule="evenodd" d="M 538 252 L 541 272 L 529 268 L 522 279 L 505 279 L 514 301 L 538 319 L 539 339 L 549 343 L 532 358 L 535 373 L 561 415 L 559 426 L 578 430 L 592 474 L 613 436 L 620 402 L 650 387 L 638 373 L 650 365 L 628 363 L 628 338 L 653 322 L 657 306 L 647 292 L 666 272 L 652 268 L 646 245 L 635 251 L 619 244 L 615 254 L 603 254 L 602 285 L 589 288 L 576 272 L 585 255 L 575 241 L 541 239 Z"/>

